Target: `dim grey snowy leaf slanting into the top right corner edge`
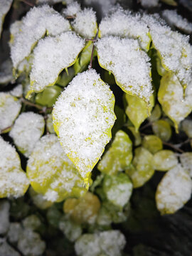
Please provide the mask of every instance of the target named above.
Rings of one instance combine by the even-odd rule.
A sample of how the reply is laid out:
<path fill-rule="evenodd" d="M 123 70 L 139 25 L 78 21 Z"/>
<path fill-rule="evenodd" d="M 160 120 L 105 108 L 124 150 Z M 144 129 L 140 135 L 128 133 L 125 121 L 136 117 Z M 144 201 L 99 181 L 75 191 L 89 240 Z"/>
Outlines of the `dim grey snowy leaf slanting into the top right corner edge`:
<path fill-rule="evenodd" d="M 186 33 L 192 33 L 192 23 L 189 23 L 186 18 L 177 14 L 176 10 L 164 10 L 162 17 L 170 26 L 175 26 Z"/>

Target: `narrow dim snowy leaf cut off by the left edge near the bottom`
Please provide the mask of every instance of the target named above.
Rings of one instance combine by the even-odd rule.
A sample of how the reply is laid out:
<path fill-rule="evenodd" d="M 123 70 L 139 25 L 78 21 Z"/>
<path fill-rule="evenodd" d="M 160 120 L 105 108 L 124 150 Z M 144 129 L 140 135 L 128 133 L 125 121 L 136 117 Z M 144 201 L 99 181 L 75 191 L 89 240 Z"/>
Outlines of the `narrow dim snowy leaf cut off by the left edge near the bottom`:
<path fill-rule="evenodd" d="M 9 208 L 8 201 L 1 201 L 0 203 L 0 234 L 4 235 L 9 229 Z"/>

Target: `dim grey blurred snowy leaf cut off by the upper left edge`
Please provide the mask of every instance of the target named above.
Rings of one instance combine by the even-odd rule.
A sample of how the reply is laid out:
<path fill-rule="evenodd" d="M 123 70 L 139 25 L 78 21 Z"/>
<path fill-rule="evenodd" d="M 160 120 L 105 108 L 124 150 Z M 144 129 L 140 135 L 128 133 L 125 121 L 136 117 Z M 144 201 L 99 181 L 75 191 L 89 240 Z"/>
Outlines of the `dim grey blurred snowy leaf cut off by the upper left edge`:
<path fill-rule="evenodd" d="M 11 59 L 5 60 L 1 64 L 0 68 L 0 84 L 6 84 L 14 80 L 13 74 L 12 74 L 12 63 Z"/>

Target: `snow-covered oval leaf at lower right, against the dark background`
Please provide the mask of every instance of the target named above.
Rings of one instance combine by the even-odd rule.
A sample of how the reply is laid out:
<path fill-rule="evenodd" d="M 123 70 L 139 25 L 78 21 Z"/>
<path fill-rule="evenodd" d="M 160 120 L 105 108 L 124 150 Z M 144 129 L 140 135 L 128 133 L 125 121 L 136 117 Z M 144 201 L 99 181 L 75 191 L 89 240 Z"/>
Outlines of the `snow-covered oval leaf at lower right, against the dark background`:
<path fill-rule="evenodd" d="M 175 213 L 191 198 L 192 181 L 180 164 L 169 170 L 156 190 L 156 206 L 161 214 Z"/>

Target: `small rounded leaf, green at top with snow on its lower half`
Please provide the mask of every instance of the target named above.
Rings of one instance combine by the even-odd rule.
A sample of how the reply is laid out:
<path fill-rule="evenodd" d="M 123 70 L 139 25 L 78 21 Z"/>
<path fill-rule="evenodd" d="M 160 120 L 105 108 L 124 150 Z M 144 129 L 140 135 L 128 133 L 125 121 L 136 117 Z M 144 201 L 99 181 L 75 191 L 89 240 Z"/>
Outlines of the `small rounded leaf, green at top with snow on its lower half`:
<path fill-rule="evenodd" d="M 127 174 L 118 174 L 116 176 L 105 176 L 103 181 L 103 191 L 114 206 L 123 208 L 132 195 L 132 182 Z"/>

